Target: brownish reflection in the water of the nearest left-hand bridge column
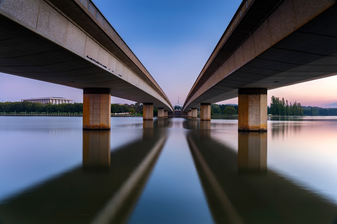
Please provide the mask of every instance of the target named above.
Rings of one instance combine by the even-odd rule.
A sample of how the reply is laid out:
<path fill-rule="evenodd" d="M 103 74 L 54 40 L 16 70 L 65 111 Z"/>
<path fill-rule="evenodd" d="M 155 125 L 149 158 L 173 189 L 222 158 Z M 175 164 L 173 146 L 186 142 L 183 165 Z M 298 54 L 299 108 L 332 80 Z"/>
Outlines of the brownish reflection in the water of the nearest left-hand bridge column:
<path fill-rule="evenodd" d="M 110 130 L 83 130 L 83 168 L 109 168 L 110 150 Z"/>

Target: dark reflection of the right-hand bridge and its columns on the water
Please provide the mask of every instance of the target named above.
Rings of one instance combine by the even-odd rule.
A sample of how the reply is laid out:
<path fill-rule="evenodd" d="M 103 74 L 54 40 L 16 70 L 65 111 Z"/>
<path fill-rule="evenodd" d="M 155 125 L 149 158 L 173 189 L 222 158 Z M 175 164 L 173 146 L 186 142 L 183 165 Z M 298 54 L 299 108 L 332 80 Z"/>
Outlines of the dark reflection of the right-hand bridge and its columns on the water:
<path fill-rule="evenodd" d="M 238 153 L 209 122 L 184 122 L 215 223 L 336 223 L 337 206 L 267 169 L 267 133 L 239 132 Z"/>

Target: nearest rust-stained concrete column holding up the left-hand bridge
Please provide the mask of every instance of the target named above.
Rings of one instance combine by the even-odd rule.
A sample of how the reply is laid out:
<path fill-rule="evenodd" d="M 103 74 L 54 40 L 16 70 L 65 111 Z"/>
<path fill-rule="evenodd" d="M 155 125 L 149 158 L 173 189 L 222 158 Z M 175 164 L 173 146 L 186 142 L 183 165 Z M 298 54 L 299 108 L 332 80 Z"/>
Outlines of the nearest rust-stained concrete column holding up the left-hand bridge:
<path fill-rule="evenodd" d="M 83 129 L 110 129 L 110 92 L 107 88 L 83 89 Z"/>

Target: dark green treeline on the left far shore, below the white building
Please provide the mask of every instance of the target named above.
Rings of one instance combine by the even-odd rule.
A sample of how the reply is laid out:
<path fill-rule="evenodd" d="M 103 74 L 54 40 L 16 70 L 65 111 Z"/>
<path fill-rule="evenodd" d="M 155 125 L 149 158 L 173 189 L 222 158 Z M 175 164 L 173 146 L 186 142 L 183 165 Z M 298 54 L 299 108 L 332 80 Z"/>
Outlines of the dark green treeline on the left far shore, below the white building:
<path fill-rule="evenodd" d="M 157 111 L 158 110 L 154 109 Z M 0 102 L 0 114 L 82 114 L 83 103 Z M 111 104 L 111 113 L 143 113 L 143 104 Z"/>

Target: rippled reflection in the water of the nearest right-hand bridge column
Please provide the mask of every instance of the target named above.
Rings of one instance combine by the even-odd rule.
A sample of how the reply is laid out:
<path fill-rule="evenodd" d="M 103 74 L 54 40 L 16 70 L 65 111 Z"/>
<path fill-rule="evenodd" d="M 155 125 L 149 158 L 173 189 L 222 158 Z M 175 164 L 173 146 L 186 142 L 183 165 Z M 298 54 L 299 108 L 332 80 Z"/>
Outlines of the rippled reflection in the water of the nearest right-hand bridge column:
<path fill-rule="evenodd" d="M 267 171 L 267 133 L 238 133 L 239 172 Z"/>

